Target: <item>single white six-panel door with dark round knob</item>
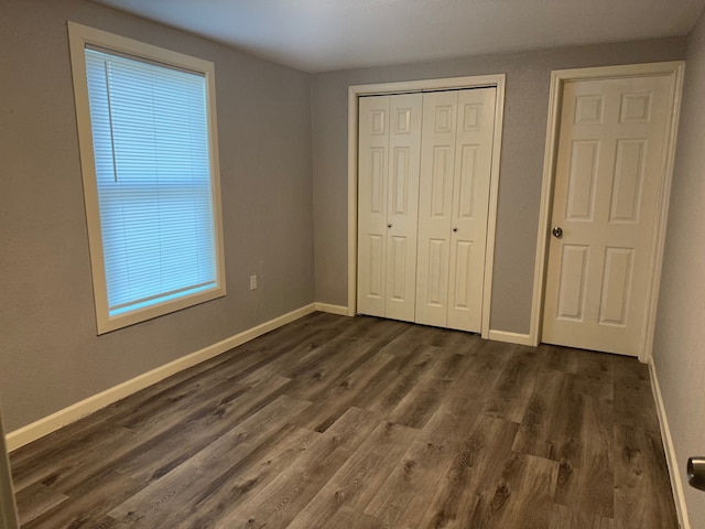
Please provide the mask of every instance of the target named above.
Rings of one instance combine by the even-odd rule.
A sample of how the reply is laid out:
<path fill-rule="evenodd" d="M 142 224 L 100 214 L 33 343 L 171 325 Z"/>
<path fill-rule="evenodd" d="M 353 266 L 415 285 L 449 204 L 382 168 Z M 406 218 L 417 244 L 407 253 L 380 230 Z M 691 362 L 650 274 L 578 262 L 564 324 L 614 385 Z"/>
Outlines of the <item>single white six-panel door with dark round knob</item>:
<path fill-rule="evenodd" d="M 671 89 L 668 76 L 565 84 L 543 342 L 639 354 Z"/>

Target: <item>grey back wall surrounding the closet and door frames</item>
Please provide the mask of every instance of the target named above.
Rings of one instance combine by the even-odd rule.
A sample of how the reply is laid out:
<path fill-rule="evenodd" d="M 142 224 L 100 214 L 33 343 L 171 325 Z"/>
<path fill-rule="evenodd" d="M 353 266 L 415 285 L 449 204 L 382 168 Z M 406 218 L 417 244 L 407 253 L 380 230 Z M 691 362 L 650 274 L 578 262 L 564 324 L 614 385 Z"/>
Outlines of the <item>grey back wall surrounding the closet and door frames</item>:
<path fill-rule="evenodd" d="M 468 57 L 313 77 L 316 301 L 347 305 L 347 87 L 507 74 L 491 328 L 528 334 L 551 71 L 680 60 L 685 39 Z"/>

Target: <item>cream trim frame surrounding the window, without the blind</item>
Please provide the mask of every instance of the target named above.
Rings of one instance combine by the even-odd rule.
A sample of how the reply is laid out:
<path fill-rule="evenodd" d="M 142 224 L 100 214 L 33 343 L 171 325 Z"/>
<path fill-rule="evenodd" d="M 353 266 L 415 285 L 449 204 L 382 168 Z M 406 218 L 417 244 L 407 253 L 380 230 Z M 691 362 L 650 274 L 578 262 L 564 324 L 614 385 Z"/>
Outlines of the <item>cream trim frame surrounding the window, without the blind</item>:
<path fill-rule="evenodd" d="M 144 322 L 226 294 L 225 251 L 223 242 L 223 213 L 220 206 L 220 172 L 218 166 L 218 136 L 216 123 L 215 67 L 212 62 L 182 53 L 165 50 L 151 44 L 119 36 L 106 31 L 68 22 L 68 41 L 70 64 L 74 80 L 74 98 L 76 102 L 76 121 L 88 225 L 88 244 L 93 271 L 94 299 L 96 304 L 96 322 L 98 334 Z M 90 108 L 88 104 L 88 85 L 86 80 L 86 46 L 97 46 L 108 52 L 134 56 L 171 66 L 195 72 L 206 79 L 206 99 L 208 112 L 208 139 L 210 177 L 213 190 L 214 239 L 216 247 L 216 287 L 207 291 L 185 295 L 143 309 L 137 309 L 119 315 L 109 315 L 108 293 L 104 260 L 104 245 L 98 209 L 98 186 L 94 159 L 93 130 Z"/>

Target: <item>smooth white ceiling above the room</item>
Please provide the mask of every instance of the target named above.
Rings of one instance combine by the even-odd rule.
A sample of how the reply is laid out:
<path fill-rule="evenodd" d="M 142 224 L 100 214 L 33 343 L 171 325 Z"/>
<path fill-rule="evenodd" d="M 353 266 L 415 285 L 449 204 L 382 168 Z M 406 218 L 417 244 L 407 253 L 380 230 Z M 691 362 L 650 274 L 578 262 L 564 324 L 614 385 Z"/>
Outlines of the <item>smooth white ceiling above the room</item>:
<path fill-rule="evenodd" d="M 687 34 L 705 0 L 94 0 L 305 72 Z"/>

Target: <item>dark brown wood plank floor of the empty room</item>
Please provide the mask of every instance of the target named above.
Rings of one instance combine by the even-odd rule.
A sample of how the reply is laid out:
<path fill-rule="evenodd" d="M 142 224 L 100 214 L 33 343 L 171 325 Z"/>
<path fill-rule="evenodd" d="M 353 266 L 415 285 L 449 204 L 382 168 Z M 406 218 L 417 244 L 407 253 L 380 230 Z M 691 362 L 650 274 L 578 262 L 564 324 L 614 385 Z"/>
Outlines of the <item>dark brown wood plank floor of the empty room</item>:
<path fill-rule="evenodd" d="M 315 313 L 11 454 L 24 528 L 677 528 L 633 358 Z"/>

